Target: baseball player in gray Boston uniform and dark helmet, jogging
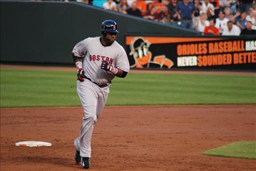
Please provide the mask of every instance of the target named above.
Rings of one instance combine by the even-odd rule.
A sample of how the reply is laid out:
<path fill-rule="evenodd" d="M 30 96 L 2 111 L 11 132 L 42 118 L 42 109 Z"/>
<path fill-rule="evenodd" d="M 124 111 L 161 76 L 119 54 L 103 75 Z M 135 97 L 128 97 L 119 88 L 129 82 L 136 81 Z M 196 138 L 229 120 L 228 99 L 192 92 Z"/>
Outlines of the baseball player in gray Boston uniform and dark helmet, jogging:
<path fill-rule="evenodd" d="M 80 136 L 75 139 L 75 160 L 83 168 L 90 167 L 90 140 L 94 124 L 100 116 L 115 76 L 126 77 L 130 65 L 125 50 L 115 41 L 117 23 L 105 20 L 101 24 L 101 36 L 88 37 L 73 48 L 73 60 L 77 67 L 77 94 L 83 110 Z"/>

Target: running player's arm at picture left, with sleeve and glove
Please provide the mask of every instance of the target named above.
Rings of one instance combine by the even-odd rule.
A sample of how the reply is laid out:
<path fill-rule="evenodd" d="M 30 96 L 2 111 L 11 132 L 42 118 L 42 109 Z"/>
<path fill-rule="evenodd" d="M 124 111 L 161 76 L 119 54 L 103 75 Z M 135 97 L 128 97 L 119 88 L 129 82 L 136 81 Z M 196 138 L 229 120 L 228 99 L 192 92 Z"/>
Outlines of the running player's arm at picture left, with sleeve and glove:
<path fill-rule="evenodd" d="M 84 69 L 82 68 L 82 58 L 86 55 L 86 39 L 75 45 L 72 51 L 73 61 L 77 68 L 77 80 L 84 81 Z"/>

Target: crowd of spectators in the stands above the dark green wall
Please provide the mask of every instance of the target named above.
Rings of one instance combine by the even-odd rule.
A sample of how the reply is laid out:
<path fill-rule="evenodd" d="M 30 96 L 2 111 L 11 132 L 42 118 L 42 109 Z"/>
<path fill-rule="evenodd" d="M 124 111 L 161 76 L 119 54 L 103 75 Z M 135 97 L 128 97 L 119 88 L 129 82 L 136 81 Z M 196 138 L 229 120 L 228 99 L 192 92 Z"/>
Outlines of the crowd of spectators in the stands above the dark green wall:
<path fill-rule="evenodd" d="M 256 0 L 77 0 L 204 35 L 256 35 Z"/>

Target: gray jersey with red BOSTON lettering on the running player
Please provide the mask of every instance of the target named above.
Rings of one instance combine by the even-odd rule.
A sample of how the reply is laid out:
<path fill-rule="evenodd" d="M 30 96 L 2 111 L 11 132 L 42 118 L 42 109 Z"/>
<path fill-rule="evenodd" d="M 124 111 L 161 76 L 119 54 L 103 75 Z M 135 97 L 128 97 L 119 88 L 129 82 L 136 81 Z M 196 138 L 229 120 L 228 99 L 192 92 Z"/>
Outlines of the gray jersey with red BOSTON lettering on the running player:
<path fill-rule="evenodd" d="M 102 60 L 125 72 L 129 72 L 130 69 L 125 49 L 117 41 L 104 47 L 100 37 L 88 37 L 77 43 L 72 53 L 75 56 L 84 57 L 82 68 L 85 76 L 98 84 L 105 84 L 114 78 L 112 73 L 101 69 Z"/>

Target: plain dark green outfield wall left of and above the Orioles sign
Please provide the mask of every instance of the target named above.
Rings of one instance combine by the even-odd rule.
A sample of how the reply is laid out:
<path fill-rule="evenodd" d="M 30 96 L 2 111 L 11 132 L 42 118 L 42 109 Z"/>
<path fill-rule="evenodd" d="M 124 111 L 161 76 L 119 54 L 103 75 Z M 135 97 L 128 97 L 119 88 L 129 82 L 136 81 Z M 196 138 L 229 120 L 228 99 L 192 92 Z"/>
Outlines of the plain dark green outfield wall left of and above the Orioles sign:
<path fill-rule="evenodd" d="M 70 64 L 74 45 L 100 36 L 106 19 L 118 23 L 123 46 L 125 34 L 198 34 L 83 3 L 1 1 L 1 62 Z"/>

